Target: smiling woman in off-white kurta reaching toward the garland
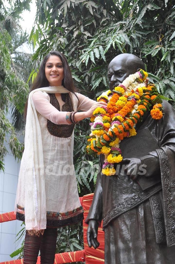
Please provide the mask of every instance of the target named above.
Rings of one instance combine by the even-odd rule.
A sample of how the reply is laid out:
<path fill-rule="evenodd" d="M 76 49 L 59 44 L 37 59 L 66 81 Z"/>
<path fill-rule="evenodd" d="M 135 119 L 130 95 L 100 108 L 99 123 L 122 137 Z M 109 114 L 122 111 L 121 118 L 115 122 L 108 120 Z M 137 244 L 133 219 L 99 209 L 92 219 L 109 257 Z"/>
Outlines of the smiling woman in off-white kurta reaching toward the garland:
<path fill-rule="evenodd" d="M 24 264 L 36 263 L 39 250 L 41 264 L 54 263 L 57 227 L 83 219 L 73 166 L 73 131 L 76 122 L 104 105 L 75 92 L 64 55 L 51 51 L 45 56 L 28 98 L 15 203 L 16 218 L 25 221 L 27 230 Z"/>

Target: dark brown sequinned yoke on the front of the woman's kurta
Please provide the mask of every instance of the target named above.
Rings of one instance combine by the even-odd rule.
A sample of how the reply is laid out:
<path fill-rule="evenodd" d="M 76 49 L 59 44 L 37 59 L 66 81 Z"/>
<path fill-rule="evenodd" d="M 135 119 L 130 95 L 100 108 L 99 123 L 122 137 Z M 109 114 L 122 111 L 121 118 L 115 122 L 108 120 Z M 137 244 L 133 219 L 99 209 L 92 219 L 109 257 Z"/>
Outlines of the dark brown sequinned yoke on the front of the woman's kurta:
<path fill-rule="evenodd" d="M 55 96 L 54 93 L 48 93 L 48 96 L 50 97 L 50 103 L 53 105 L 57 110 L 64 111 L 64 112 L 73 112 L 74 108 L 72 105 L 72 101 L 70 98 L 69 93 L 65 94 L 65 103 L 62 106 L 62 110 L 60 110 L 59 102 Z M 57 136 L 59 138 L 69 138 L 72 135 L 72 132 L 74 130 L 75 124 L 71 125 L 57 125 L 51 122 L 50 120 L 47 120 L 47 130 L 49 133 L 53 136 Z"/>

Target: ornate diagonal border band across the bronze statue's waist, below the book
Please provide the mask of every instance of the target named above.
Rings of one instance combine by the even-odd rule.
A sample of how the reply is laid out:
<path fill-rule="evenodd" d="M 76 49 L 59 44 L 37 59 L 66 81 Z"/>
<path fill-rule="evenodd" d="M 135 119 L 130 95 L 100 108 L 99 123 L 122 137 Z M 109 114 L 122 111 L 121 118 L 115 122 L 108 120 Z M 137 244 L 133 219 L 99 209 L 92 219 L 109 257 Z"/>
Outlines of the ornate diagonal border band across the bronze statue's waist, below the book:
<path fill-rule="evenodd" d="M 158 185 L 155 185 L 147 190 L 140 191 L 138 194 L 135 194 L 126 201 L 117 204 L 104 216 L 103 228 L 105 228 L 111 220 L 141 204 L 143 201 L 147 200 L 160 190 L 162 190 L 162 184 L 159 183 Z"/>

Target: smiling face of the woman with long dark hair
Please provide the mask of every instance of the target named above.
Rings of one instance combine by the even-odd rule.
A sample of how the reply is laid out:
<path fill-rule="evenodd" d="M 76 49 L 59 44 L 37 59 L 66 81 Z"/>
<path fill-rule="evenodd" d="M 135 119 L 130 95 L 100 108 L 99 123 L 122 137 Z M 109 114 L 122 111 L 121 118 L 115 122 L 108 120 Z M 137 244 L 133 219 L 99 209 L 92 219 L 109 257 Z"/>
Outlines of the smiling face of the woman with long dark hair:
<path fill-rule="evenodd" d="M 64 67 L 60 57 L 51 55 L 46 61 L 45 75 L 50 86 L 60 86 L 64 78 Z"/>

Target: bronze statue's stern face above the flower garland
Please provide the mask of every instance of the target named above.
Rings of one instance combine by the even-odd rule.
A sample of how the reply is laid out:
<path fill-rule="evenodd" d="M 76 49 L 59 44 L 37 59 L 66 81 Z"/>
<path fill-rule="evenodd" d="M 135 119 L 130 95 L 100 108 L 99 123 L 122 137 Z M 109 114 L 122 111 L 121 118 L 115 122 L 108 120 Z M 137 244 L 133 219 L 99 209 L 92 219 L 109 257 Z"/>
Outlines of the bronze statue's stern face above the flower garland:
<path fill-rule="evenodd" d="M 116 56 L 108 66 L 109 87 L 111 91 L 136 71 L 137 69 L 127 66 L 126 57 Z"/>

